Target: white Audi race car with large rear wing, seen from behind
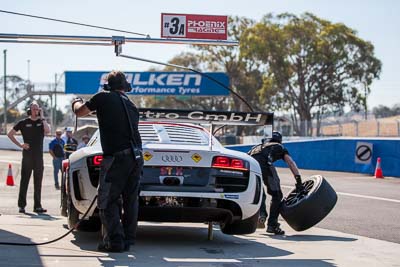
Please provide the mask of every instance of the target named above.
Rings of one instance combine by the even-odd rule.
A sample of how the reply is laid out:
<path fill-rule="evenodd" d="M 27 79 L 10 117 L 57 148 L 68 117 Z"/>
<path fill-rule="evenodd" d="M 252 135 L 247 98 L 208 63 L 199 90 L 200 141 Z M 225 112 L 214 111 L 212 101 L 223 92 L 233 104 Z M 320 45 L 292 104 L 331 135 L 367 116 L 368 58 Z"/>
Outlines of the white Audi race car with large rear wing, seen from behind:
<path fill-rule="evenodd" d="M 260 166 L 251 156 L 224 148 L 210 132 L 221 124 L 272 125 L 273 114 L 158 109 L 140 113 L 144 168 L 139 220 L 219 222 L 225 234 L 253 233 L 263 190 Z M 208 123 L 210 130 L 190 122 Z M 61 214 L 69 227 L 97 194 L 101 160 L 97 131 L 87 147 L 63 162 Z M 95 206 L 84 222 L 98 228 Z"/>

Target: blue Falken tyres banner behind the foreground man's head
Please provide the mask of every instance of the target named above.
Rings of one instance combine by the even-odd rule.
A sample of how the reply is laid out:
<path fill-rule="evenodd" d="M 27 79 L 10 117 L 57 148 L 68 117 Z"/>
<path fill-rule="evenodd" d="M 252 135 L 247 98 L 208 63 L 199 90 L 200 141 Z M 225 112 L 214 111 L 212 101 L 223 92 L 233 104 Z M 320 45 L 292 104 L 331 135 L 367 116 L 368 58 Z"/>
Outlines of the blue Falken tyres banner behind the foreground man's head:
<path fill-rule="evenodd" d="M 107 71 L 66 71 L 65 93 L 92 95 L 107 83 Z M 194 72 L 124 72 L 134 95 L 229 95 L 228 89 Z M 222 72 L 205 73 L 229 86 L 229 78 Z"/>

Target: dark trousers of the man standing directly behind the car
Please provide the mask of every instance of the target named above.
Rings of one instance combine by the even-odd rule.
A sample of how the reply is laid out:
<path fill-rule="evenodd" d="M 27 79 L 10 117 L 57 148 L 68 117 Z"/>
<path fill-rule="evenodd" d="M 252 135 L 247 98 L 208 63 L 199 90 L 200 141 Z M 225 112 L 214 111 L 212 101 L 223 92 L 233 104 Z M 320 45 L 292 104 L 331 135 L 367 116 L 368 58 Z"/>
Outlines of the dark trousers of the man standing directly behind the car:
<path fill-rule="evenodd" d="M 136 238 L 141 166 L 131 153 L 105 156 L 101 164 L 98 207 L 104 226 L 104 244 L 123 248 Z M 120 197 L 123 201 L 122 224 Z"/>

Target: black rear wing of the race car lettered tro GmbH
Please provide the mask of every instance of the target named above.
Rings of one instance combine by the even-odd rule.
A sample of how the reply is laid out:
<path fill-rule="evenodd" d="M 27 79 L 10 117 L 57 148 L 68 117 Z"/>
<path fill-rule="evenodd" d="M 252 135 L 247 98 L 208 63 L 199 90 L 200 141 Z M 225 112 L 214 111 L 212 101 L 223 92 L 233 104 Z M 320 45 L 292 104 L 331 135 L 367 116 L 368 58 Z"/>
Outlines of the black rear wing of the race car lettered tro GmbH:
<path fill-rule="evenodd" d="M 212 125 L 273 125 L 274 113 L 140 108 L 142 121 L 186 122 Z"/>

